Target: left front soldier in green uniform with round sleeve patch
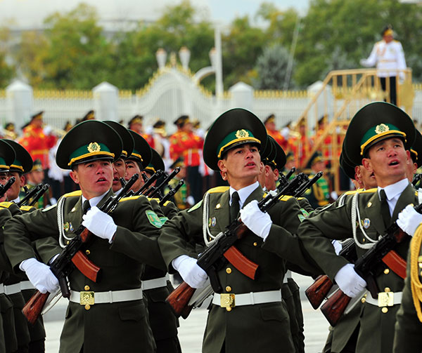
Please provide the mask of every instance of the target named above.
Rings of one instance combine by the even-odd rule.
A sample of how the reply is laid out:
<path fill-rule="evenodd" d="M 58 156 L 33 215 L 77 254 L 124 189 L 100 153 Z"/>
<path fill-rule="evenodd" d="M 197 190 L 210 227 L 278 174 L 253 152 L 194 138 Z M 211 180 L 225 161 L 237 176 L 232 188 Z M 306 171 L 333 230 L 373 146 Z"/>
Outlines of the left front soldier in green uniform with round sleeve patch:
<path fill-rule="evenodd" d="M 141 274 L 146 262 L 164 267 L 156 241 L 160 219 L 148 201 L 139 197 L 123 199 L 112 215 L 99 209 L 113 195 L 112 162 L 121 152 L 122 141 L 107 124 L 95 120 L 78 124 L 60 143 L 56 161 L 60 168 L 72 169 L 70 176 L 81 191 L 64 195 L 50 208 L 17 215 L 5 225 L 5 250 L 11 265 L 16 271 L 24 270 L 43 293 L 58 286 L 44 264 L 66 246 L 79 225 L 91 232 L 92 241 L 84 252 L 101 267 L 101 278 L 91 281 L 77 269 L 70 274 L 70 303 L 60 352 L 155 349 Z M 36 260 L 32 248 L 31 242 L 37 239 L 46 239 L 44 246 L 37 245 L 44 263 Z"/>

